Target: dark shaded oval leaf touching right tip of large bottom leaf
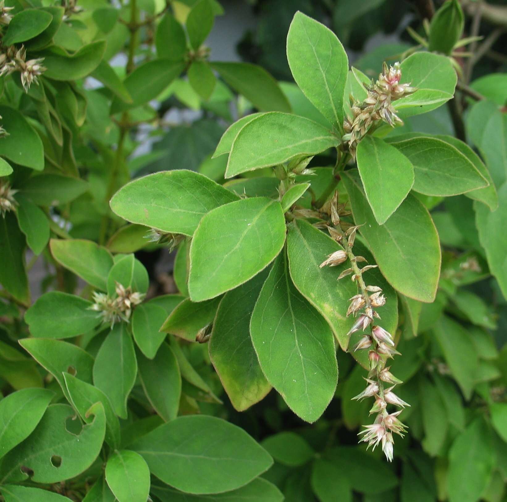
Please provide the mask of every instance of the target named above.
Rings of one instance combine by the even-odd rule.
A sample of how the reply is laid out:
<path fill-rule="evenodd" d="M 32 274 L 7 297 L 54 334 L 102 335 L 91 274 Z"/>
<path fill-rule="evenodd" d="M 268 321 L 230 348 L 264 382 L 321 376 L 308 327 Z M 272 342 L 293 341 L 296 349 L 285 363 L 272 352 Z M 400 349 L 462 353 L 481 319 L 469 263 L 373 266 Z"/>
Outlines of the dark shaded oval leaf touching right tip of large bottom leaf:
<path fill-rule="evenodd" d="M 289 467 L 304 465 L 315 455 L 313 448 L 295 432 L 278 432 L 261 445 L 274 460 Z"/>

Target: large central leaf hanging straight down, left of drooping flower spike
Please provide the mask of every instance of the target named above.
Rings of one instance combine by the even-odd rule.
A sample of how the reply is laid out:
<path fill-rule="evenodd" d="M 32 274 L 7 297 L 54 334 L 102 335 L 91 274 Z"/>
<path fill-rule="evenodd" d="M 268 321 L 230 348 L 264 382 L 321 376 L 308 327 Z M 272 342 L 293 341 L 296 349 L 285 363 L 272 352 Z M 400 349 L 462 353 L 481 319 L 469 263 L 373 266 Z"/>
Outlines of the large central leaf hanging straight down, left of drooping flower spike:
<path fill-rule="evenodd" d="M 336 389 L 335 344 L 328 324 L 293 285 L 285 252 L 253 309 L 250 336 L 268 382 L 299 417 L 317 420 Z"/>

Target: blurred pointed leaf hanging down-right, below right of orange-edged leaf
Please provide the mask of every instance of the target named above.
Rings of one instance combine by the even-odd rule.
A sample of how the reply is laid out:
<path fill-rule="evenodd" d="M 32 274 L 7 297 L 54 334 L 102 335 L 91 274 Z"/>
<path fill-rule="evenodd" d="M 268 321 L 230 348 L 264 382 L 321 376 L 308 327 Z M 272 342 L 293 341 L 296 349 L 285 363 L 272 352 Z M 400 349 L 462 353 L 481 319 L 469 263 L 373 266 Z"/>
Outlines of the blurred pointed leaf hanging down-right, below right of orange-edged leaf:
<path fill-rule="evenodd" d="M 433 328 L 451 375 L 456 379 L 466 399 L 472 396 L 478 371 L 474 343 L 465 328 L 450 317 L 441 316 Z"/>

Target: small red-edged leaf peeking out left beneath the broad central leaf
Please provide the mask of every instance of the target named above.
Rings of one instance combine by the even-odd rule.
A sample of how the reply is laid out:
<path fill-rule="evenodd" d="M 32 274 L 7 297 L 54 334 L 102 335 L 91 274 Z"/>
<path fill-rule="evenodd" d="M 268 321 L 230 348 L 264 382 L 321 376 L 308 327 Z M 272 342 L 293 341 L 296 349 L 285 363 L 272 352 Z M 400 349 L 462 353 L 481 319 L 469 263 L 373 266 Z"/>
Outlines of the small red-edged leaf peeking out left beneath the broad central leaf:
<path fill-rule="evenodd" d="M 197 332 L 213 321 L 220 300 L 221 297 L 216 297 L 205 302 L 192 302 L 190 298 L 185 298 L 159 329 L 163 333 L 175 334 L 189 342 L 195 342 Z"/>

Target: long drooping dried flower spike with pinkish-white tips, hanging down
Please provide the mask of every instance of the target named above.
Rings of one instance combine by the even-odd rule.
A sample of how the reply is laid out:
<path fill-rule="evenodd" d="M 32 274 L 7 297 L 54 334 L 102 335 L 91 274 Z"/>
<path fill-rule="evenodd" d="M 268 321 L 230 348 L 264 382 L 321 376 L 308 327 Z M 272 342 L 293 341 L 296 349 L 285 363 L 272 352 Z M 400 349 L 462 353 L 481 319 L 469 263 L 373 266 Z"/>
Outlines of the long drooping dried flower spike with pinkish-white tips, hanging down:
<path fill-rule="evenodd" d="M 323 208 L 324 209 L 324 208 Z M 382 443 L 382 450 L 387 460 L 392 461 L 393 438 L 392 433 L 400 434 L 403 437 L 407 427 L 397 418 L 401 411 L 388 413 L 387 405 L 394 405 L 401 408 L 410 406 L 403 399 L 398 397 L 392 389 L 395 385 L 402 383 L 389 372 L 390 366 L 386 367 L 386 361 L 395 354 L 400 354 L 394 348 L 394 341 L 391 334 L 379 325 L 374 325 L 375 319 L 380 319 L 375 309 L 385 305 L 386 298 L 379 286 L 366 285 L 363 273 L 377 265 L 366 265 L 359 269 L 357 262 L 366 261 L 363 256 L 355 256 L 352 252 L 354 246 L 357 226 L 344 225 L 340 221 L 340 215 L 345 213 L 343 205 L 338 204 L 338 192 L 335 192 L 325 211 L 331 216 L 334 227 L 328 227 L 329 233 L 335 241 L 343 246 L 343 250 L 335 251 L 325 259 L 320 266 L 335 266 L 349 260 L 351 266 L 344 270 L 338 279 L 352 274 L 352 281 L 357 283 L 359 292 L 350 298 L 350 305 L 347 309 L 347 317 L 357 316 L 357 320 L 350 328 L 348 334 L 356 331 L 365 331 L 370 327 L 370 333 L 365 334 L 355 345 L 354 351 L 368 350 L 370 373 L 368 374 L 366 389 L 353 399 L 362 400 L 366 397 L 374 397 L 375 403 L 370 414 L 376 413 L 377 417 L 371 425 L 365 425 L 365 430 L 359 434 L 365 434 L 360 441 L 368 443 L 368 447 L 375 448 Z M 346 226 L 346 230 L 343 229 Z M 390 385 L 384 388 L 384 384 Z"/>

